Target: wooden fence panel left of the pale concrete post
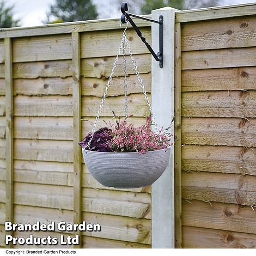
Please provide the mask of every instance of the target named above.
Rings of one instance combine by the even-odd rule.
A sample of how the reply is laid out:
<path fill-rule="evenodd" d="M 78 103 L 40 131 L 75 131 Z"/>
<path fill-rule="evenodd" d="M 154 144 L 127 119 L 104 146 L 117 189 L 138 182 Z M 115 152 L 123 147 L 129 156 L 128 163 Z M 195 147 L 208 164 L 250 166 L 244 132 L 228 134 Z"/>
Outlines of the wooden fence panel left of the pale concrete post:
<path fill-rule="evenodd" d="M 138 24 L 150 40 L 149 24 Z M 5 219 L 15 223 L 86 220 L 100 223 L 101 231 L 83 233 L 82 247 L 150 247 L 150 187 L 101 186 L 88 173 L 77 144 L 92 130 L 92 123 L 81 118 L 95 120 L 121 42 L 119 25 L 111 20 L 0 32 L 4 38 L 0 42 L 2 247 Z M 150 93 L 150 54 L 132 29 L 127 34 Z M 120 60 L 102 111 L 106 120 L 112 119 L 112 110 L 124 116 L 122 65 Z M 148 108 L 131 60 L 127 66 L 129 113 L 134 115 L 131 121 L 139 124 Z M 99 124 L 104 125 L 102 119 Z"/>

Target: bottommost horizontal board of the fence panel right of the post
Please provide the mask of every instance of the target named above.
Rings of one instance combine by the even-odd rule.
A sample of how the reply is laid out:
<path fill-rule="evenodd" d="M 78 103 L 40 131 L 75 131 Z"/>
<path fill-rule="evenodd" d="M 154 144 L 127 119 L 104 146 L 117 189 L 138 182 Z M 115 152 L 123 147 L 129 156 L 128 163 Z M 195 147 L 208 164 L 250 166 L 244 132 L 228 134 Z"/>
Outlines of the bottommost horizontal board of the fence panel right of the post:
<path fill-rule="evenodd" d="M 182 227 L 184 248 L 256 248 L 256 235 L 219 229 Z"/>

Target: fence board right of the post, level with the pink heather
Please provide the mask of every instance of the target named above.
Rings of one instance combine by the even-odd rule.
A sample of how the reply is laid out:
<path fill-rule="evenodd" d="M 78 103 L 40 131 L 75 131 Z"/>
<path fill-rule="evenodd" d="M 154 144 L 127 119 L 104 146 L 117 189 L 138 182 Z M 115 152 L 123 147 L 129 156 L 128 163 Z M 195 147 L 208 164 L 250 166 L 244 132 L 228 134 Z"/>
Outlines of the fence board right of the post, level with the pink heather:
<path fill-rule="evenodd" d="M 256 119 L 183 118 L 182 143 L 256 147 Z"/>

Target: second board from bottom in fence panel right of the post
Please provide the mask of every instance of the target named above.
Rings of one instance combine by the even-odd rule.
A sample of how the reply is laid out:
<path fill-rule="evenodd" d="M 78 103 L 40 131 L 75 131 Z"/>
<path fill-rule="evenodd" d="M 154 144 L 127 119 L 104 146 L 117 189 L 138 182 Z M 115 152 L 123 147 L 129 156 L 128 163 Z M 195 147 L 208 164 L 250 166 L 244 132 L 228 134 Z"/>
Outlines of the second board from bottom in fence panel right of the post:
<path fill-rule="evenodd" d="M 256 233 L 256 214 L 249 206 L 193 200 L 184 201 L 182 209 L 182 221 L 187 226 Z"/>

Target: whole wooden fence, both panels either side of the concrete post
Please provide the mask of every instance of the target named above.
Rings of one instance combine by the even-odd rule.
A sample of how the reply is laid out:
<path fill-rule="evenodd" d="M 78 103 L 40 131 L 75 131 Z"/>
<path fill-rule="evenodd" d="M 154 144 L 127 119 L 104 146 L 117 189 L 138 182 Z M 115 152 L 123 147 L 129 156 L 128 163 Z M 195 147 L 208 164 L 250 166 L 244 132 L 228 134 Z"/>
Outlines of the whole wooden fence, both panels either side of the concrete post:
<path fill-rule="evenodd" d="M 175 14 L 176 247 L 256 247 L 255 14 L 256 4 Z M 150 41 L 150 23 L 136 24 Z M 0 32 L 0 246 L 5 220 L 86 220 L 102 231 L 83 233 L 83 248 L 151 247 L 151 188 L 101 186 L 77 145 L 92 128 L 81 118 L 95 119 L 119 25 L 115 19 Z M 151 56 L 132 29 L 127 35 L 150 95 Z M 149 113 L 127 65 L 129 112 L 140 124 Z M 120 60 L 104 119 L 112 110 L 123 114 L 122 76 Z"/>

